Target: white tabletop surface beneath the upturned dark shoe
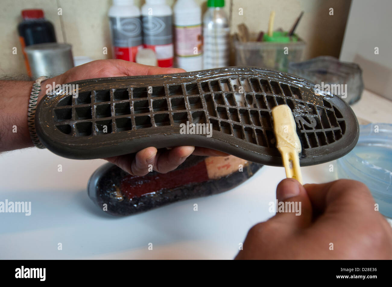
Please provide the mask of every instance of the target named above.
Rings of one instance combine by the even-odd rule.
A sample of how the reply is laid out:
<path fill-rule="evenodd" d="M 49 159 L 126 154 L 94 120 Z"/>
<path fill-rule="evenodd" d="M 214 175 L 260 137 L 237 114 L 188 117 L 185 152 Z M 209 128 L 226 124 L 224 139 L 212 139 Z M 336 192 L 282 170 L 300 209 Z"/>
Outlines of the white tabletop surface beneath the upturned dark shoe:
<path fill-rule="evenodd" d="M 373 114 L 375 103 L 387 114 Z M 367 121 L 391 121 L 392 102 L 367 91 L 353 109 Z M 232 259 L 249 228 L 274 215 L 268 204 L 285 177 L 284 168 L 264 166 L 225 193 L 119 218 L 87 196 L 87 181 L 103 163 L 36 148 L 0 154 L 0 201 L 31 201 L 30 216 L 0 213 L 0 259 Z M 336 179 L 330 164 L 301 168 L 304 182 Z"/>

